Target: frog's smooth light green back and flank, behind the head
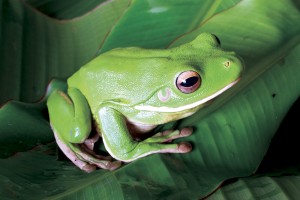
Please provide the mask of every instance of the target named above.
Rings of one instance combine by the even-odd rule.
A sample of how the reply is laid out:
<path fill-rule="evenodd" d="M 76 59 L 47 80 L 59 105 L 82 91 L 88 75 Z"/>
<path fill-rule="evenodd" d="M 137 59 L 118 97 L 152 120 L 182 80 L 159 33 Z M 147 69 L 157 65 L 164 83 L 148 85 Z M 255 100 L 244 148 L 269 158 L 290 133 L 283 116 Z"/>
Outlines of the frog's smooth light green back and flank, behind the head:
<path fill-rule="evenodd" d="M 137 104 L 151 96 L 166 80 L 172 81 L 161 71 L 162 66 L 170 62 L 167 58 L 138 55 L 138 48 L 137 54 L 131 53 L 134 55 L 131 57 L 126 55 L 127 51 L 123 54 L 121 50 L 115 51 L 119 52 L 98 56 L 68 79 L 69 87 L 78 88 L 92 110 L 106 101 Z"/>

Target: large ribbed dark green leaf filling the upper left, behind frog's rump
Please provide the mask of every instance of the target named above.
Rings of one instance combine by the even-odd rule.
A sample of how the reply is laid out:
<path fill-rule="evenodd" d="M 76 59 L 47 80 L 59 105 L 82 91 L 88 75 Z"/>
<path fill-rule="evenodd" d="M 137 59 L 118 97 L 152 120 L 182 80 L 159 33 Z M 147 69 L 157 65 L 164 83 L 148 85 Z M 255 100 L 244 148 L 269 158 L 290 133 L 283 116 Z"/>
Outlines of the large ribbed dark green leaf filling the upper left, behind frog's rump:
<path fill-rule="evenodd" d="M 66 78 L 91 60 L 127 6 L 127 0 L 112 0 L 81 17 L 56 20 L 23 1 L 1 1 L 0 103 L 36 101 L 51 78 Z"/>

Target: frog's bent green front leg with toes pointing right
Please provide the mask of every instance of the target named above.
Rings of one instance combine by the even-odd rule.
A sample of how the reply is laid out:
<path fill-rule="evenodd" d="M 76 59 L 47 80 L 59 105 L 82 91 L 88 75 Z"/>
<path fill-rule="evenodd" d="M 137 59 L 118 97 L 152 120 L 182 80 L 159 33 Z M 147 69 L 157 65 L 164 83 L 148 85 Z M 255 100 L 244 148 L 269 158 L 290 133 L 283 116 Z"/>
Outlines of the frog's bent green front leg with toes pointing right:
<path fill-rule="evenodd" d="M 109 106 L 101 107 L 98 111 L 98 121 L 105 148 L 117 160 L 131 162 L 153 153 L 187 153 L 192 149 L 187 142 L 163 143 L 191 135 L 190 128 L 157 133 L 138 142 L 131 137 L 125 117 L 115 109 Z"/>

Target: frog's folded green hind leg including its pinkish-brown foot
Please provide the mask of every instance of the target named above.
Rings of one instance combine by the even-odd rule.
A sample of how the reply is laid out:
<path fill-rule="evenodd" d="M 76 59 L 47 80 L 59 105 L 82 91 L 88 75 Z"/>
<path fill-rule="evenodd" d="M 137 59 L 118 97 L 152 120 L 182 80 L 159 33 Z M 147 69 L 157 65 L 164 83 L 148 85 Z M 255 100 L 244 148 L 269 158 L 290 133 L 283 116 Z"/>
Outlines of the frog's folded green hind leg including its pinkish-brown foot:
<path fill-rule="evenodd" d="M 96 166 L 110 170 L 119 167 L 120 162 L 92 151 L 98 137 L 88 138 L 91 132 L 89 105 L 78 89 L 69 89 L 68 95 L 57 90 L 47 101 L 51 127 L 60 149 L 76 166 L 87 172 L 95 170 Z"/>

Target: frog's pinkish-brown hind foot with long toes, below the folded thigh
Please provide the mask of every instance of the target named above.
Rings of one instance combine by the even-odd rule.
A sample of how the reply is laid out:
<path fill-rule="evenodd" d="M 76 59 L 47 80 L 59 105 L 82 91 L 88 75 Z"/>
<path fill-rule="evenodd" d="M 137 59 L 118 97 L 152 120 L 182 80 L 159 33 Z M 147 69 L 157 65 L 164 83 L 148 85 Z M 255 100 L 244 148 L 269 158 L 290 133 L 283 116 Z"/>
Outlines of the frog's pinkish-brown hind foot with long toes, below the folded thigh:
<path fill-rule="evenodd" d="M 63 153 L 80 169 L 92 172 L 97 167 L 108 170 L 115 170 L 122 162 L 112 161 L 110 156 L 101 156 L 93 152 L 86 144 L 72 144 L 63 142 L 54 133 L 56 142 Z"/>

